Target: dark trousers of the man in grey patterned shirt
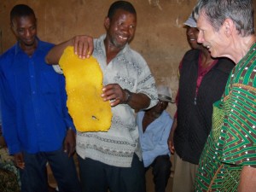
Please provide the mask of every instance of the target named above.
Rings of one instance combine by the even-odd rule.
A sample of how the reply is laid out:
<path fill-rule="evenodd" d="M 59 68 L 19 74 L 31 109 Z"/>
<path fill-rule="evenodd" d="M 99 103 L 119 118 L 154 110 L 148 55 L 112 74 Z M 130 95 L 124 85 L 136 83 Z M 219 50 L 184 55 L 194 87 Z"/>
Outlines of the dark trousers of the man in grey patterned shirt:
<path fill-rule="evenodd" d="M 131 167 L 109 166 L 79 156 L 83 192 L 146 192 L 143 161 L 133 155 Z"/>

